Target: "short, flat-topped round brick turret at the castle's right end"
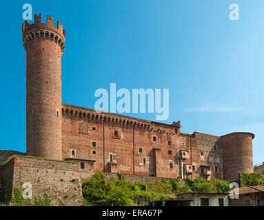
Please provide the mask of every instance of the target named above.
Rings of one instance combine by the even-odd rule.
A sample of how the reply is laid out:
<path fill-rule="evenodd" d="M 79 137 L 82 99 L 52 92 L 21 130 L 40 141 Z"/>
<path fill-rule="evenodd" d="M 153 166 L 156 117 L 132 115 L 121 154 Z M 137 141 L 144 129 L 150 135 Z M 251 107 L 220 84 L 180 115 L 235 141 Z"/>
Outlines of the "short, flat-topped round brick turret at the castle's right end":
<path fill-rule="evenodd" d="M 254 173 L 253 133 L 234 132 L 221 136 L 223 148 L 223 179 L 238 180 L 239 173 Z"/>

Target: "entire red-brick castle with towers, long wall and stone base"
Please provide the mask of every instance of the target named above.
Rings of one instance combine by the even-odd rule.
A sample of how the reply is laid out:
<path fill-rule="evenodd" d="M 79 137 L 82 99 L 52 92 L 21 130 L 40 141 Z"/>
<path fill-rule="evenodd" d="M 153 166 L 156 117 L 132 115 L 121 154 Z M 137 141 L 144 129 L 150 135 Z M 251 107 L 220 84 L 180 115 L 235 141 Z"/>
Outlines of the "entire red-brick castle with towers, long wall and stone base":
<path fill-rule="evenodd" d="M 61 103 L 63 25 L 58 21 L 54 27 L 54 18 L 49 16 L 47 23 L 41 23 L 41 14 L 35 14 L 34 23 L 25 21 L 22 31 L 26 50 L 26 157 L 18 156 L 23 153 L 0 152 L 0 164 L 17 155 L 0 166 L 0 200 L 10 201 L 12 189 L 21 188 L 25 181 L 39 194 L 47 192 L 48 186 L 63 188 L 63 192 L 56 191 L 63 199 L 63 193 L 73 187 L 73 177 L 87 178 L 94 172 L 110 176 L 122 173 L 132 179 L 225 180 L 254 172 L 253 133 L 184 133 L 180 121 L 163 124 Z M 54 194 L 54 189 L 49 190 Z M 81 195 L 80 190 L 70 193 Z"/>

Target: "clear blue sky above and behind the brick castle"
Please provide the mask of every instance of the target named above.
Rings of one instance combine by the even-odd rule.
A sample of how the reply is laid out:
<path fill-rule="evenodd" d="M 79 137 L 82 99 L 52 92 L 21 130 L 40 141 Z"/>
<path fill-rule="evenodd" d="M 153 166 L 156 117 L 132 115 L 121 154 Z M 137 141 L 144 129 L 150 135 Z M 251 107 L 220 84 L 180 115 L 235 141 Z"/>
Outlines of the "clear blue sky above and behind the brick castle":
<path fill-rule="evenodd" d="M 264 161 L 263 0 L 86 0 L 1 2 L 0 148 L 26 151 L 26 52 L 22 5 L 66 30 L 62 100 L 94 108 L 94 91 L 170 89 L 181 131 L 248 131 Z M 238 3 L 239 21 L 229 19 Z M 30 21 L 32 23 L 32 21 Z M 156 120 L 156 113 L 126 113 Z"/>

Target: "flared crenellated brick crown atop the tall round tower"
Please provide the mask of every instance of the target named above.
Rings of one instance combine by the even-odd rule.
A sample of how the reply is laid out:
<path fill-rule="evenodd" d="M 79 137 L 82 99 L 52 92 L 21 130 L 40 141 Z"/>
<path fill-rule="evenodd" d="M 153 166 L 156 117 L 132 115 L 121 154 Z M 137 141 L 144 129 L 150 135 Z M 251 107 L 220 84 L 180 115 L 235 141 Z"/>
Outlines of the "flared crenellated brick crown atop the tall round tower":
<path fill-rule="evenodd" d="M 58 43 L 61 47 L 61 54 L 63 54 L 65 49 L 65 30 L 63 30 L 63 25 L 57 21 L 57 28 L 54 27 L 54 17 L 47 15 L 47 23 L 41 22 L 41 14 L 34 14 L 34 23 L 30 24 L 28 20 L 22 23 L 23 32 L 23 46 L 26 50 L 26 45 L 33 38 L 45 38 L 55 43 Z"/>

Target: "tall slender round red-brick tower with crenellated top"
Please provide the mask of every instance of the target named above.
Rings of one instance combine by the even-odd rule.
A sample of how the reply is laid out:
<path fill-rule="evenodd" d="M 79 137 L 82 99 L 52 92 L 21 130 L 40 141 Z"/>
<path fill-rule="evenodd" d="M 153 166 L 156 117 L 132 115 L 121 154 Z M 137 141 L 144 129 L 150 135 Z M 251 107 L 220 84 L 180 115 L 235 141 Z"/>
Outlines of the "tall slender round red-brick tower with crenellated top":
<path fill-rule="evenodd" d="M 62 159 L 61 55 L 65 30 L 59 21 L 34 14 L 22 25 L 26 50 L 27 155 Z"/>

